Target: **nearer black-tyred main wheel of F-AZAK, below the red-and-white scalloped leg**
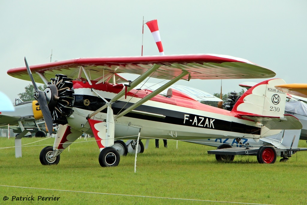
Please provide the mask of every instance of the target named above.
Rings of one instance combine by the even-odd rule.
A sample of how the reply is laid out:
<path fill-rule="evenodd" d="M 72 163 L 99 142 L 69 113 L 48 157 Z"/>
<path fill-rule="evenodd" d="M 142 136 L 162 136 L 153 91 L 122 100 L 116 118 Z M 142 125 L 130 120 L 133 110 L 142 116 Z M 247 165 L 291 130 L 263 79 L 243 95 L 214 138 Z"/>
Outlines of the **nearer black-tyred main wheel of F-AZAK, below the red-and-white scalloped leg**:
<path fill-rule="evenodd" d="M 102 167 L 116 167 L 120 161 L 118 151 L 113 147 L 106 147 L 99 153 L 99 164 Z"/>

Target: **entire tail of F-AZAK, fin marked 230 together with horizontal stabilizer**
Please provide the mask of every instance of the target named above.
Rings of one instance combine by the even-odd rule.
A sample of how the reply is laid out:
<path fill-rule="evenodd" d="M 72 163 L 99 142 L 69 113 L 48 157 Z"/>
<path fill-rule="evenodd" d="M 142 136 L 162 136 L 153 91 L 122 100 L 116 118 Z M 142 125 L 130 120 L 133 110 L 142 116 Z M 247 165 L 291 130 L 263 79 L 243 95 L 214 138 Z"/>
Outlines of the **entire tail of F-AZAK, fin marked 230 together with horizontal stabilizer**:
<path fill-rule="evenodd" d="M 284 115 L 286 93 L 274 87 L 282 82 L 285 81 L 276 78 L 258 83 L 239 98 L 231 111 L 243 119 L 258 121 L 270 130 L 301 129 L 302 124 L 296 117 Z"/>

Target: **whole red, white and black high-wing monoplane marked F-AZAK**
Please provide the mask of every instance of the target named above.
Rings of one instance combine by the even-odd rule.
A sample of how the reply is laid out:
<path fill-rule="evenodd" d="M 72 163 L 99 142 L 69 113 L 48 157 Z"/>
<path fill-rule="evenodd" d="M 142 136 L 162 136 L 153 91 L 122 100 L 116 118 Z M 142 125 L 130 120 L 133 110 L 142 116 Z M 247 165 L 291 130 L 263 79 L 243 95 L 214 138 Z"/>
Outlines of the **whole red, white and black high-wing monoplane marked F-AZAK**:
<path fill-rule="evenodd" d="M 31 80 L 48 130 L 58 123 L 53 147 L 40 153 L 41 164 L 58 164 L 60 153 L 81 134 L 94 135 L 99 164 L 117 166 L 120 154 L 112 147 L 130 136 L 189 140 L 200 138 L 261 138 L 280 129 L 301 129 L 301 122 L 284 115 L 286 93 L 275 89 L 282 79 L 263 81 L 249 89 L 233 111 L 201 104 L 181 93 L 158 95 L 180 79 L 271 78 L 275 73 L 242 58 L 216 54 L 137 57 L 96 57 L 56 61 L 8 70 Z M 118 73 L 138 74 L 122 84 Z M 167 79 L 155 91 L 134 89 L 147 77 Z M 50 79 L 50 82 L 49 80 Z M 36 82 L 48 87 L 41 91 Z M 120 142 L 119 142 L 120 141 Z M 123 149 L 125 143 L 122 143 Z M 272 148 L 274 149 L 274 148 Z M 263 151 L 263 150 L 262 150 Z"/>

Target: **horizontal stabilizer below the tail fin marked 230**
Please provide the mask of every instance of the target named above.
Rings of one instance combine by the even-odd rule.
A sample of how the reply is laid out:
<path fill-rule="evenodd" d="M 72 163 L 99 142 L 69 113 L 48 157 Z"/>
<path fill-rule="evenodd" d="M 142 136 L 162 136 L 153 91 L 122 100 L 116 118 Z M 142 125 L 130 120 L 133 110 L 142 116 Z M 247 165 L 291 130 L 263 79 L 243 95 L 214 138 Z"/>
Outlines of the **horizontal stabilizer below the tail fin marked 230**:
<path fill-rule="evenodd" d="M 271 130 L 282 129 L 301 129 L 303 128 L 300 120 L 293 115 L 278 116 L 260 116 L 260 115 L 240 115 L 243 119 L 259 122 Z"/>

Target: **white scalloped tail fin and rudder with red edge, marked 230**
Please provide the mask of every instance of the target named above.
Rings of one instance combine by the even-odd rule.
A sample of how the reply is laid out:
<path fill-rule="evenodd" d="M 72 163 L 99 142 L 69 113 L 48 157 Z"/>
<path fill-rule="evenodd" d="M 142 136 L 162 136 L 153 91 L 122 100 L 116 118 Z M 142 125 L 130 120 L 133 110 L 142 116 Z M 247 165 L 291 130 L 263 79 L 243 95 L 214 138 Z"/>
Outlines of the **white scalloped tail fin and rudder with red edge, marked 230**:
<path fill-rule="evenodd" d="M 238 114 L 284 117 L 286 93 L 274 86 L 285 82 L 280 78 L 262 81 L 248 89 L 232 111 Z"/>

